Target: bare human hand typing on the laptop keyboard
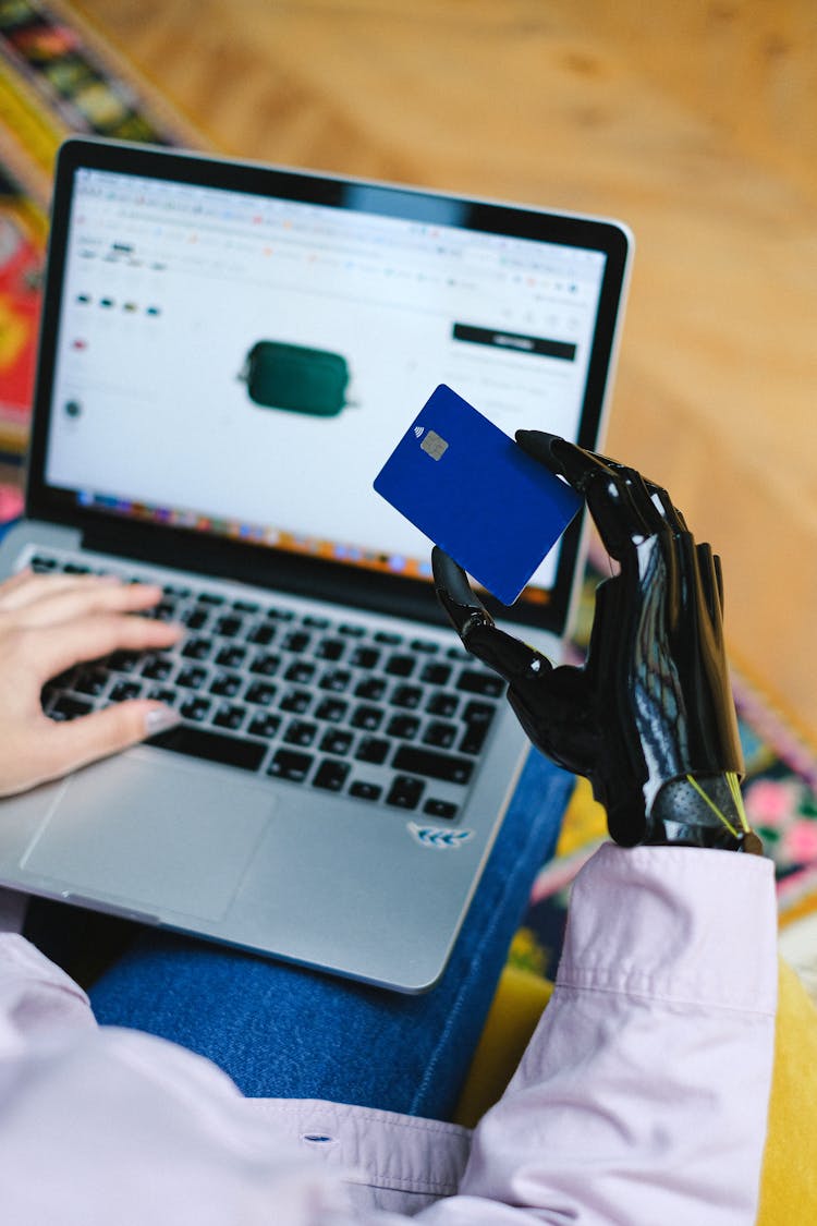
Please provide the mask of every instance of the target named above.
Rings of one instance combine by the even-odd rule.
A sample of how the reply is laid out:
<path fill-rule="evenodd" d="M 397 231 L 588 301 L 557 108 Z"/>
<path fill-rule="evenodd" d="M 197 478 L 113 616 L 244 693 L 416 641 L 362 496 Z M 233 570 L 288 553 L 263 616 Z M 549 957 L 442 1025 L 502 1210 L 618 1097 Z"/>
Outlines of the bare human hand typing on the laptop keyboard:
<path fill-rule="evenodd" d="M 23 792 L 118 753 L 178 721 L 162 702 L 134 699 L 58 723 L 43 685 L 111 651 L 169 647 L 181 628 L 143 613 L 160 588 L 98 576 L 21 571 L 0 584 L 0 796 Z"/>

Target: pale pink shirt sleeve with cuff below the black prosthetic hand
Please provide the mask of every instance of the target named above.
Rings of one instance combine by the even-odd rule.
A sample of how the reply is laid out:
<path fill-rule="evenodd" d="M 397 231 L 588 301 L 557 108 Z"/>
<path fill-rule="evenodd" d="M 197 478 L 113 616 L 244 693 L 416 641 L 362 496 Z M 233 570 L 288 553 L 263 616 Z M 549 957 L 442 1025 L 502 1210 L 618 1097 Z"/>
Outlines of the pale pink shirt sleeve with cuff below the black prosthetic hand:
<path fill-rule="evenodd" d="M 420 1217 L 753 1226 L 775 937 L 769 861 L 605 845 L 574 883 L 551 1003 L 461 1194 Z"/>

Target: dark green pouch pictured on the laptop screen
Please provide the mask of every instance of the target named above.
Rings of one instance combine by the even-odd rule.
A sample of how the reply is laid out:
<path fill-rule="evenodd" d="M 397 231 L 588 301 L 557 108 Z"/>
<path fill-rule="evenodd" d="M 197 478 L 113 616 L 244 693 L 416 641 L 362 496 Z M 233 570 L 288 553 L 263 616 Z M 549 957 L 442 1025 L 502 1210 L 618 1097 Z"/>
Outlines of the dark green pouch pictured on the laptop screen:
<path fill-rule="evenodd" d="M 262 408 L 334 417 L 345 405 L 349 367 L 339 353 L 283 341 L 257 341 L 240 374 Z"/>

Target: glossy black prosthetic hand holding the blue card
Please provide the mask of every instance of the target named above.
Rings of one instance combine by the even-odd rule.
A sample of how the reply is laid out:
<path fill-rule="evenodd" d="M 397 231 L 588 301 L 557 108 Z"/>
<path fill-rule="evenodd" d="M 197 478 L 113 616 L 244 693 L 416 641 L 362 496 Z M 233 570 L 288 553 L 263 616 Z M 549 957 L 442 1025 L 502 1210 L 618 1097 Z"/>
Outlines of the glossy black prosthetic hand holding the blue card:
<path fill-rule="evenodd" d="M 530 741 L 589 779 L 616 842 L 759 853 L 739 790 L 719 559 L 634 470 L 538 430 L 517 443 L 584 495 L 620 574 L 598 588 L 585 664 L 554 668 L 495 625 L 437 548 L 437 596 L 463 645 L 508 683 Z"/>

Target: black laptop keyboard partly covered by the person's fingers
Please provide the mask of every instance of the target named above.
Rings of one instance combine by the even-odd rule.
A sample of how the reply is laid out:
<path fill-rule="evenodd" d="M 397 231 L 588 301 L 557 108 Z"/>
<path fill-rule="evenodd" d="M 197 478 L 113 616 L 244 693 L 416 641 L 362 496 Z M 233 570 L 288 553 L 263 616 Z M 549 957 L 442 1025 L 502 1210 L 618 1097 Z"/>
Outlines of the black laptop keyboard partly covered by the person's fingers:
<path fill-rule="evenodd" d="M 103 573 L 42 552 L 31 565 Z M 459 813 L 505 693 L 463 649 L 200 584 L 164 586 L 151 615 L 186 636 L 70 669 L 44 688 L 47 715 L 159 699 L 183 717 L 152 739 L 160 748 L 426 818 Z"/>

